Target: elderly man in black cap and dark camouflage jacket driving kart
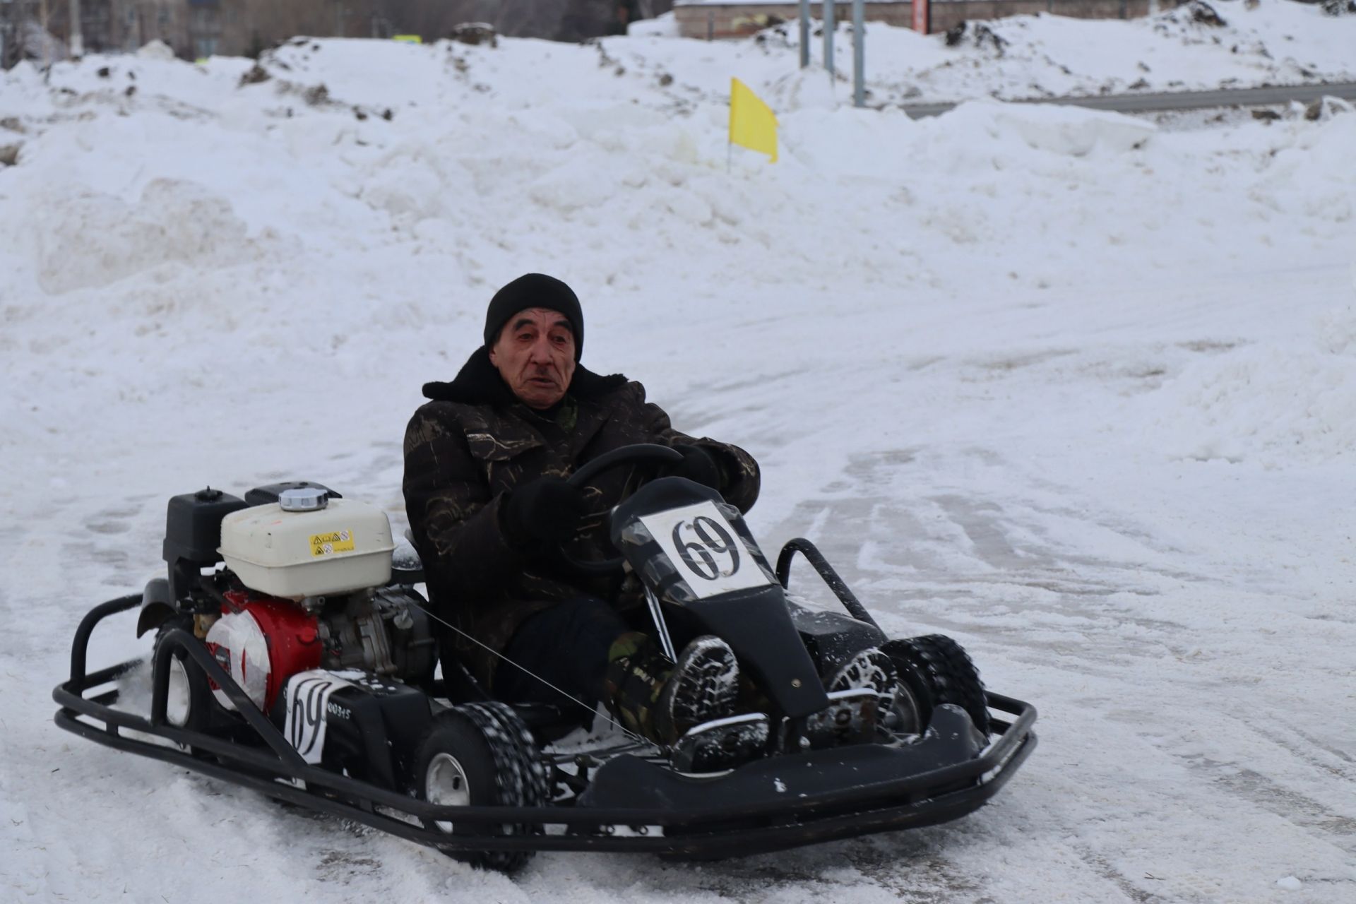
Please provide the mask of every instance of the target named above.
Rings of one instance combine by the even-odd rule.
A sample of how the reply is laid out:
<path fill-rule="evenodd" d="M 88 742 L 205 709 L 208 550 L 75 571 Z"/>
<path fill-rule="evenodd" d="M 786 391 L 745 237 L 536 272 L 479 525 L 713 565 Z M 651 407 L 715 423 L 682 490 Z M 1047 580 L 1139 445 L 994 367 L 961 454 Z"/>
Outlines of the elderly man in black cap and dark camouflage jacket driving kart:
<path fill-rule="evenodd" d="M 583 312 L 564 282 L 527 274 L 500 289 L 484 346 L 456 379 L 423 388 L 431 401 L 405 431 L 405 510 L 431 599 L 458 629 L 454 655 L 495 698 L 601 699 L 631 731 L 671 744 L 734 713 L 735 655 L 704 636 L 670 661 L 647 633 L 633 577 L 582 577 L 559 565 L 560 550 L 606 557 L 607 511 L 654 472 L 614 468 L 582 488 L 565 478 L 613 449 L 659 443 L 682 454 L 666 476 L 747 511 L 758 464 L 674 430 L 639 382 L 583 367 Z M 834 680 L 860 683 L 869 665 Z"/>

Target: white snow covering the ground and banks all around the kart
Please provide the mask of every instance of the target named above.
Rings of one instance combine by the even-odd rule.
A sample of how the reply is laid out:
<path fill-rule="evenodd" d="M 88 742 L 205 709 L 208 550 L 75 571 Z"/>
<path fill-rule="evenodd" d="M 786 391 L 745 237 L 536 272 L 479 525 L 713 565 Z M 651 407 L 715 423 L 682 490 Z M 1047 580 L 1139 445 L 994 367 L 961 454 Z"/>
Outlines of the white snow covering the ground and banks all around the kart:
<path fill-rule="evenodd" d="M 1219 9 L 1351 77 L 1329 49 L 1356 16 Z M 1070 81 L 895 34 L 982 64 L 898 84 L 1096 91 L 1159 34 L 993 27 Z M 1279 80 L 1155 46 L 1150 80 Z M 914 122 L 835 106 L 773 39 L 317 41 L 241 84 L 251 65 L 0 73 L 0 900 L 1356 899 L 1356 114 Z M 781 118 L 776 165 L 727 172 L 732 75 Z M 52 725 L 80 615 L 161 572 L 168 496 L 311 477 L 403 526 L 419 386 L 529 270 L 578 289 L 584 363 L 758 457 L 765 546 L 811 537 L 888 630 L 953 634 L 1040 709 L 993 805 L 510 880 Z M 92 652 L 144 648 L 129 617 Z"/>

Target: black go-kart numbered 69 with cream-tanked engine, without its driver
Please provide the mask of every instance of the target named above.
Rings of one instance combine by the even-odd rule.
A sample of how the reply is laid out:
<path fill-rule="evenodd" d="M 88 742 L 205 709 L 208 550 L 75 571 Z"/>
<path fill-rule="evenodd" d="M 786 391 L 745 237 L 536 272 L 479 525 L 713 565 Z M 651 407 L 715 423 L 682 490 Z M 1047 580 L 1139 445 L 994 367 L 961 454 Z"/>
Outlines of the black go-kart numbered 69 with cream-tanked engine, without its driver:
<path fill-rule="evenodd" d="M 677 457 L 628 446 L 571 481 Z M 717 859 L 942 823 L 1036 745 L 1035 709 L 984 691 L 953 640 L 887 638 L 805 539 L 773 569 L 706 487 L 654 478 L 610 512 L 609 535 L 614 558 L 556 565 L 629 572 L 670 656 L 724 638 L 744 712 L 660 747 L 607 731 L 605 714 L 590 732 L 576 712 L 492 699 L 449 655 L 418 558 L 392 561 L 386 515 L 292 482 L 170 500 L 168 576 L 80 622 L 56 722 L 502 870 L 542 850 Z M 788 598 L 797 553 L 846 614 Z M 156 633 L 149 716 L 118 706 L 117 682 L 142 660 L 87 670 L 94 629 L 137 606 L 138 636 Z M 898 672 L 888 691 L 826 690 L 871 646 Z"/>

